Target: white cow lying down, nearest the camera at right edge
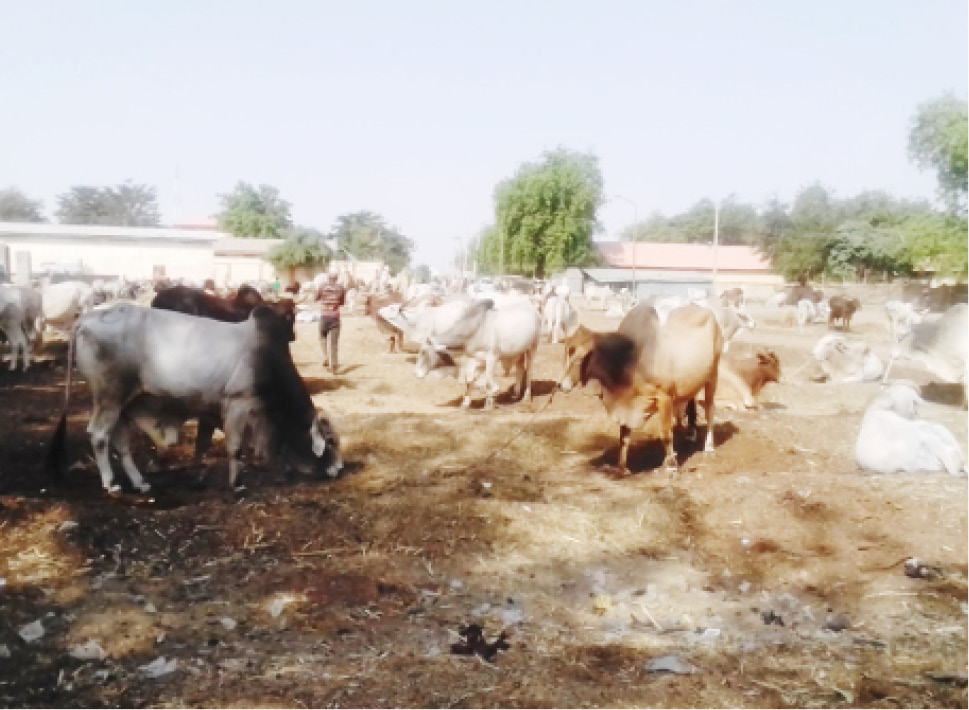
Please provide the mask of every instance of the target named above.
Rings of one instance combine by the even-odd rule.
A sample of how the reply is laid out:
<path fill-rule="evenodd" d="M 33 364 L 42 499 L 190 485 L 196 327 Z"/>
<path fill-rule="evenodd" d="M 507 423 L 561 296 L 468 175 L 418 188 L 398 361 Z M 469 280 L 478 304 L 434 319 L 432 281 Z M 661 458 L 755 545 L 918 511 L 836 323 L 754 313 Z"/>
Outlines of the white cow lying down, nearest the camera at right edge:
<path fill-rule="evenodd" d="M 966 474 L 959 442 L 941 424 L 917 418 L 924 404 L 914 387 L 892 384 L 868 405 L 855 442 L 855 460 L 874 473 L 946 471 Z"/>

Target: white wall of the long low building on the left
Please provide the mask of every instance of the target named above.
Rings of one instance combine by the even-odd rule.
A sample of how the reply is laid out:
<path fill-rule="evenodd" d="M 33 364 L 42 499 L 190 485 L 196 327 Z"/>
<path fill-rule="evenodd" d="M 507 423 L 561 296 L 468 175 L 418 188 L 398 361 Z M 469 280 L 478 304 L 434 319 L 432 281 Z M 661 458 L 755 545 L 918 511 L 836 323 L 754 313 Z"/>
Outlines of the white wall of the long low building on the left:
<path fill-rule="evenodd" d="M 35 273 L 42 271 L 45 263 L 76 263 L 91 273 L 129 279 L 152 278 L 155 266 L 164 267 L 169 278 L 193 281 L 210 278 L 215 271 L 212 245 L 206 241 L 4 235 L 4 242 L 10 248 L 14 273 L 18 252 L 30 254 Z"/>

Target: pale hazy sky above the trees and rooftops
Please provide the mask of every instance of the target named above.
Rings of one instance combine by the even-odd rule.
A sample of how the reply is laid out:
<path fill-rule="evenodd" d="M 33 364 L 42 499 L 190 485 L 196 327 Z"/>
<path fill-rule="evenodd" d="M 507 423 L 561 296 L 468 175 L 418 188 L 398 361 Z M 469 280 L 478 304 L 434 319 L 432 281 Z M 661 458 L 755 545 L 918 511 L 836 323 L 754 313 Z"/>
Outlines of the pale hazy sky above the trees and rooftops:
<path fill-rule="evenodd" d="M 932 197 L 910 121 L 969 84 L 964 0 L 0 0 L 0 18 L 0 186 L 50 212 L 130 178 L 174 222 L 268 183 L 300 224 L 381 214 L 432 266 L 559 145 L 598 155 L 640 217 L 815 180 Z M 633 207 L 600 217 L 614 234 Z"/>

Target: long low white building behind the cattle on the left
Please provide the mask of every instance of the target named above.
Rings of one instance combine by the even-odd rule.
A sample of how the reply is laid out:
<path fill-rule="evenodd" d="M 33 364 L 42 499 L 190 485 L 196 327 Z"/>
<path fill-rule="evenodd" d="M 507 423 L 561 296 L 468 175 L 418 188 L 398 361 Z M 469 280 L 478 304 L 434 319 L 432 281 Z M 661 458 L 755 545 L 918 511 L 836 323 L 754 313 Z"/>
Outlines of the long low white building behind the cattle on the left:
<path fill-rule="evenodd" d="M 214 230 L 0 222 L 0 264 L 15 279 L 72 271 L 128 279 L 238 285 L 276 278 L 265 261 L 279 239 L 235 239 Z"/>

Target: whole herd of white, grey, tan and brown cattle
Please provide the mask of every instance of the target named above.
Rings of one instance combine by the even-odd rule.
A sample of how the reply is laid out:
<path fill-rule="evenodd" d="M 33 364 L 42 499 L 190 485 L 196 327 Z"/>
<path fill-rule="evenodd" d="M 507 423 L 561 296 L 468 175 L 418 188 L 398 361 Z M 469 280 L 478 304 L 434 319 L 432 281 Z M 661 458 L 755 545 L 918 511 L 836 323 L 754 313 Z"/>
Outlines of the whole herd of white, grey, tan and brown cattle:
<path fill-rule="evenodd" d="M 197 454 L 222 430 L 229 457 L 229 483 L 240 486 L 243 451 L 276 457 L 303 472 L 336 476 L 342 468 L 339 437 L 329 417 L 316 409 L 290 354 L 295 324 L 313 320 L 318 283 L 267 298 L 248 286 L 217 295 L 209 289 L 159 284 L 145 293 L 126 282 L 94 288 L 81 281 L 40 288 L 0 285 L 0 331 L 10 347 L 10 369 L 30 366 L 32 346 L 45 331 L 61 329 L 69 340 L 65 411 L 55 430 L 52 473 L 68 465 L 64 450 L 67 403 L 75 367 L 88 383 L 93 412 L 88 426 L 103 487 L 116 491 L 111 451 L 117 452 L 131 484 L 149 486 L 134 463 L 131 434 L 145 432 L 157 445 L 172 444 L 189 421 L 198 426 Z M 607 291 L 608 293 L 605 293 Z M 786 289 L 765 306 L 797 323 L 801 332 L 826 321 L 829 333 L 813 348 L 812 379 L 837 382 L 881 380 L 884 391 L 864 415 L 858 463 L 878 472 L 965 472 L 962 451 L 940 425 L 918 418 L 919 393 L 889 382 L 892 365 L 908 360 L 950 383 L 966 383 L 967 314 L 964 303 L 929 316 L 932 294 L 885 304 L 891 357 L 883 363 L 871 348 L 849 339 L 852 317 L 862 304 L 841 295 L 824 299 L 810 286 Z M 149 302 L 150 298 L 150 302 Z M 612 332 L 579 324 L 574 302 L 620 316 Z M 539 342 L 563 343 L 557 385 L 565 391 L 597 388 L 619 425 L 618 467 L 624 473 L 631 436 L 654 420 L 675 471 L 674 428 L 697 436 L 698 405 L 707 425 L 705 451 L 713 451 L 718 386 L 733 390 L 743 408 L 757 408 L 761 390 L 781 379 L 773 350 L 730 349 L 738 332 L 756 328 L 742 289 L 719 297 L 637 299 L 591 286 L 573 295 L 564 281 L 351 285 L 345 310 L 362 310 L 386 337 L 390 352 L 411 344 L 414 375 L 451 374 L 463 387 L 468 407 L 474 388 L 493 409 L 499 374 L 514 373 L 513 396 L 530 400 Z M 790 318 L 789 316 L 793 316 Z M 501 372 L 499 373 L 499 368 Z M 964 391 L 964 390 L 963 390 Z M 883 445 L 886 437 L 892 447 Z"/>

